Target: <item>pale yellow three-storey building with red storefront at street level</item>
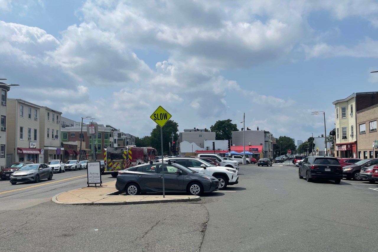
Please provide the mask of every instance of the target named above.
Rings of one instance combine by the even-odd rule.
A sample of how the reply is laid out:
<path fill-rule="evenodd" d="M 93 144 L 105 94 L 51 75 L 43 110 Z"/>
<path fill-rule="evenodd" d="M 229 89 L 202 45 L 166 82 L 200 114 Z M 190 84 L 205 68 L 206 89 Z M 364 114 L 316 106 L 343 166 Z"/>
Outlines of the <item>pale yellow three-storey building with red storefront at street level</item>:
<path fill-rule="evenodd" d="M 357 158 L 356 112 L 378 104 L 378 92 L 353 93 L 342 100 L 336 100 L 336 156 Z"/>

